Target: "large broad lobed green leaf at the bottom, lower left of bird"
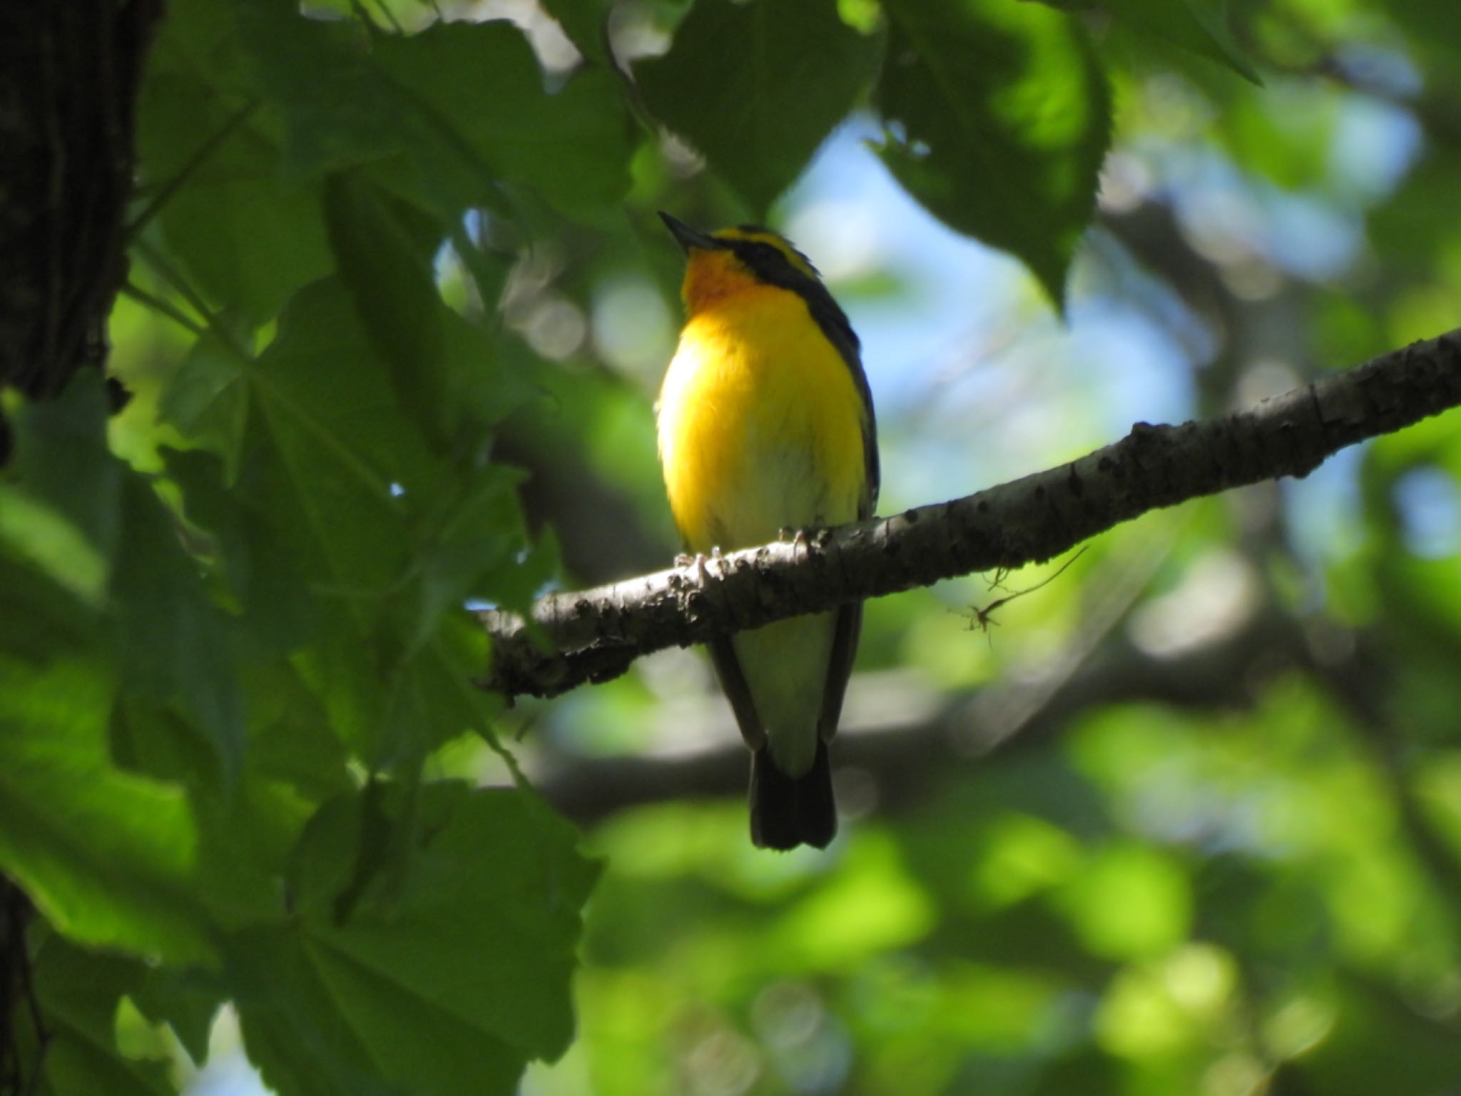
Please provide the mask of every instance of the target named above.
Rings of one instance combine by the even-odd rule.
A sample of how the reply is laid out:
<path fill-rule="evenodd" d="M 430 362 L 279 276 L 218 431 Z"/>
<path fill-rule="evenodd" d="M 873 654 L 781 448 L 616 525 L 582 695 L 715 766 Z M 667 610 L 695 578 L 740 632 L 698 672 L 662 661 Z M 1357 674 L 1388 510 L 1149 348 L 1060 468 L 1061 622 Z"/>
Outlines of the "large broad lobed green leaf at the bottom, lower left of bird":
<path fill-rule="evenodd" d="M 397 826 L 405 799 L 386 801 Z M 304 861 L 316 878 L 301 893 L 316 900 L 235 944 L 244 1040 L 281 1096 L 510 1093 L 529 1058 L 568 1045 L 579 910 L 596 877 L 573 829 L 526 792 L 460 783 L 428 785 L 416 811 L 396 900 L 377 903 L 378 881 L 335 924 L 352 853 L 349 827 L 332 827 L 333 852 Z"/>

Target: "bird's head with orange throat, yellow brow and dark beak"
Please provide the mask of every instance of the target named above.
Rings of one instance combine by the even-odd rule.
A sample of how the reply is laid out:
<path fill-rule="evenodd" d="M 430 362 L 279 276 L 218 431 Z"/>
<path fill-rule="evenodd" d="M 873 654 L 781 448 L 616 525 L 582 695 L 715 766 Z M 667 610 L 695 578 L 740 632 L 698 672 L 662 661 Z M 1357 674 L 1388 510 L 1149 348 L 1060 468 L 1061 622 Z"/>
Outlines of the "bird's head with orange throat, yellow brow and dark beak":
<path fill-rule="evenodd" d="M 770 228 L 736 225 L 719 232 L 701 232 L 669 213 L 660 213 L 660 219 L 685 250 L 682 292 L 691 316 L 758 286 L 805 292 L 821 283 L 817 267 L 806 256 Z"/>

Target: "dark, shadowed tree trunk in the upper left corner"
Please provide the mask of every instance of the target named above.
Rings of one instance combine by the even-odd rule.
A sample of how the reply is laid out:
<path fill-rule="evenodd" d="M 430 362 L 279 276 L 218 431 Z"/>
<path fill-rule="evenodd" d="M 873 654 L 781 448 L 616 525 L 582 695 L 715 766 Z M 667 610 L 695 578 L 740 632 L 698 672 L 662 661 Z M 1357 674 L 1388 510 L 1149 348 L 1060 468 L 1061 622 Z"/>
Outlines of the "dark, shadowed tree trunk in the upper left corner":
<path fill-rule="evenodd" d="M 107 358 L 137 86 L 162 0 L 0 4 L 0 387 Z"/>

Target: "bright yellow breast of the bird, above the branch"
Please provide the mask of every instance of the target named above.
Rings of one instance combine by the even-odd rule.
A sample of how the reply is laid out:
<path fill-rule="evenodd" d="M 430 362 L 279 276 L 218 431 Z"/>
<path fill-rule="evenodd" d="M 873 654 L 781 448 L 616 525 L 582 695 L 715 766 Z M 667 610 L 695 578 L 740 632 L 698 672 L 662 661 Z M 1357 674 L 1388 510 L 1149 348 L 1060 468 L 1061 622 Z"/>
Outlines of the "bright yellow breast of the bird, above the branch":
<path fill-rule="evenodd" d="M 853 520 L 863 415 L 847 364 L 796 294 L 758 285 L 698 308 L 659 397 L 660 463 L 687 548 Z"/>

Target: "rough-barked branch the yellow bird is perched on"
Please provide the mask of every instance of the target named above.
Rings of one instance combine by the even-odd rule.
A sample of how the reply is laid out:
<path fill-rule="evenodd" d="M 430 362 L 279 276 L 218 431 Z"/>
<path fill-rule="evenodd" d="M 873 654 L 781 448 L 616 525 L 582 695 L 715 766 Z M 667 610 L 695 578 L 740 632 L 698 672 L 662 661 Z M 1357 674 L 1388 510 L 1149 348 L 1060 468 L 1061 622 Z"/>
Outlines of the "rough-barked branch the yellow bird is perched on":
<path fill-rule="evenodd" d="M 482 612 L 494 655 L 481 684 L 510 697 L 557 696 L 617 677 L 652 650 L 1042 563 L 1148 510 L 1308 475 L 1346 446 L 1458 403 L 1461 329 L 1223 418 L 1138 422 L 1112 446 L 964 498 L 554 593 L 533 608 L 532 625 Z"/>

